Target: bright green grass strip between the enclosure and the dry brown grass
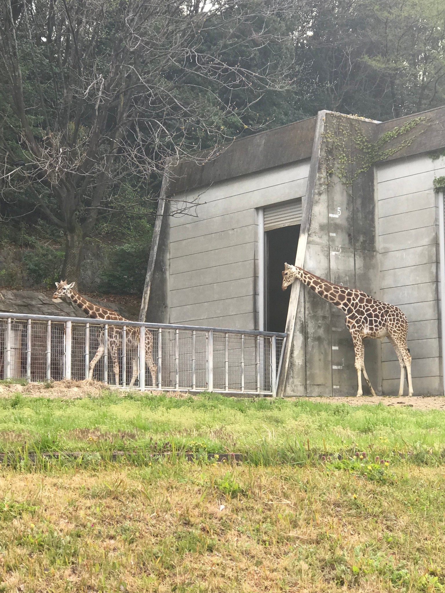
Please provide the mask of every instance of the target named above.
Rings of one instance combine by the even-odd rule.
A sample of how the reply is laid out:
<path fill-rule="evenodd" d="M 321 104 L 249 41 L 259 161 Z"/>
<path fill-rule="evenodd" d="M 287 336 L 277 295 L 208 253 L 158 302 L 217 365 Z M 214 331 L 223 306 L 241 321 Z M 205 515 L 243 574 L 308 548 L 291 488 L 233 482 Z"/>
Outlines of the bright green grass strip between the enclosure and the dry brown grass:
<path fill-rule="evenodd" d="M 253 463 L 303 463 L 310 455 L 366 451 L 441 461 L 445 413 L 203 393 L 0 400 L 0 449 L 9 451 L 237 451 Z"/>

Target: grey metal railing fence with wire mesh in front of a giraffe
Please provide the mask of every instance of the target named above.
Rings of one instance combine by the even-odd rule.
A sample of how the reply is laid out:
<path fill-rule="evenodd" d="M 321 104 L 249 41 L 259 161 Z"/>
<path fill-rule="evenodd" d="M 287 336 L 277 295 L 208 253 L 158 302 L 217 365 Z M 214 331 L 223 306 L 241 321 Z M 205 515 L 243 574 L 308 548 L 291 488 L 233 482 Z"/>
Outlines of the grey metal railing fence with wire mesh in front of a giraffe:
<path fill-rule="evenodd" d="M 0 378 L 276 394 L 285 334 L 0 313 Z"/>

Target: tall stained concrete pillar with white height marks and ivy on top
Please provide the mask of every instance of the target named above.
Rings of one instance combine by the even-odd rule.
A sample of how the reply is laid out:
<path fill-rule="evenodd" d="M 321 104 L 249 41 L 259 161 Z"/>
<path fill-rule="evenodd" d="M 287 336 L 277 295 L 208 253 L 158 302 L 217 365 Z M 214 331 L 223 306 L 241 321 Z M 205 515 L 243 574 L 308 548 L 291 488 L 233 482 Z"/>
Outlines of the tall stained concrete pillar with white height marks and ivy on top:
<path fill-rule="evenodd" d="M 372 135 L 374 130 L 372 122 L 345 118 L 341 123 L 351 126 L 351 133 L 356 125 L 366 135 Z M 379 298 L 373 171 L 358 174 L 352 187 L 345 187 L 326 170 L 326 152 L 333 150 L 326 138 L 344 133 L 338 125 L 339 117 L 326 113 L 303 267 L 330 282 L 360 288 Z M 353 146 L 344 149 L 354 154 Z M 345 154 L 349 160 L 350 155 Z M 344 313 L 304 287 L 298 301 L 285 396 L 355 395 L 354 362 Z M 365 366 L 379 393 L 380 344 L 376 340 L 365 342 Z M 363 391 L 368 393 L 367 385 Z"/>

